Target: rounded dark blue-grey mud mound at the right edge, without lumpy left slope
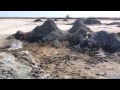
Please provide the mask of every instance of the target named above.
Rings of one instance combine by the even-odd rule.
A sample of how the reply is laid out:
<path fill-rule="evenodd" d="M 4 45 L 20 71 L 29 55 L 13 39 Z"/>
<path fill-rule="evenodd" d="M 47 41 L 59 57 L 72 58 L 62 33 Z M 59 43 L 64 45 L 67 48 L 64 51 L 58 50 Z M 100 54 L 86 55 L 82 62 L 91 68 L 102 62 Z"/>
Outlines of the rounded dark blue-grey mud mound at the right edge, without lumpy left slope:
<path fill-rule="evenodd" d="M 116 33 L 100 31 L 95 34 L 93 40 L 107 52 L 120 50 L 120 37 Z"/>

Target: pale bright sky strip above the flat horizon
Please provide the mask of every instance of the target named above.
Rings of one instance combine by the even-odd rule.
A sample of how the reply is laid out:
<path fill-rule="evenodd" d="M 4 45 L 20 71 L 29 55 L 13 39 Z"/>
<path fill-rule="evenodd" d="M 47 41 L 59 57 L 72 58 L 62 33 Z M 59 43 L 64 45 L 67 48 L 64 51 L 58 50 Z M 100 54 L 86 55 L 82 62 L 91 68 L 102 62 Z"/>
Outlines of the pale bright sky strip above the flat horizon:
<path fill-rule="evenodd" d="M 0 11 L 0 17 L 120 17 L 120 11 Z"/>

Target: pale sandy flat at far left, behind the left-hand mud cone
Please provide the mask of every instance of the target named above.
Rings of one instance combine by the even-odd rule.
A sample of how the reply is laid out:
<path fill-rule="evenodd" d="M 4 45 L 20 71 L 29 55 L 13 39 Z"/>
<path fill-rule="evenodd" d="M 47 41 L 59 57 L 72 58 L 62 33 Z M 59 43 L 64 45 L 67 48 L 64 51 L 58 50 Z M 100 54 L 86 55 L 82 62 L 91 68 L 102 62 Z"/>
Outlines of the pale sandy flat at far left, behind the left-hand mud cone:
<path fill-rule="evenodd" d="M 34 23 L 34 19 L 1 19 L 0 20 L 0 37 L 4 38 L 16 33 L 18 30 L 23 32 L 32 31 L 41 23 Z"/>

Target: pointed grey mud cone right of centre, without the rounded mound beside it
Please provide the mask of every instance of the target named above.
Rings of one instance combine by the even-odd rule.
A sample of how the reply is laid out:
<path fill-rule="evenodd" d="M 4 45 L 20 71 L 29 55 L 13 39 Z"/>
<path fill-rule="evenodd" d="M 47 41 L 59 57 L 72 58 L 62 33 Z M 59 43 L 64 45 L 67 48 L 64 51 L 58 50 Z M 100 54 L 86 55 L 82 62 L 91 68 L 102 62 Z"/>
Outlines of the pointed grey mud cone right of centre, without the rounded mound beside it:
<path fill-rule="evenodd" d="M 81 20 L 76 20 L 73 27 L 69 30 L 72 33 L 70 45 L 77 45 L 86 39 L 93 31 L 90 30 Z"/>

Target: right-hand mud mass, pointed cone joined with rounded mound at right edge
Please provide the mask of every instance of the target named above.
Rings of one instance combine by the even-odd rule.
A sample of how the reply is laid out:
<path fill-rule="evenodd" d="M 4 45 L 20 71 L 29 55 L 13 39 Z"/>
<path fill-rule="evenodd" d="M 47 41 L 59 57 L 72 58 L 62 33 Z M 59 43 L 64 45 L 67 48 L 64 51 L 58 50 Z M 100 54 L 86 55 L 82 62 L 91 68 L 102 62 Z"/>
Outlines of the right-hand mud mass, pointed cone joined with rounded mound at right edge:
<path fill-rule="evenodd" d="M 72 34 L 69 40 L 72 47 L 78 46 L 81 49 L 91 50 L 103 49 L 109 53 L 120 51 L 120 37 L 116 33 L 106 31 L 94 33 L 80 20 L 74 23 L 69 32 Z"/>

